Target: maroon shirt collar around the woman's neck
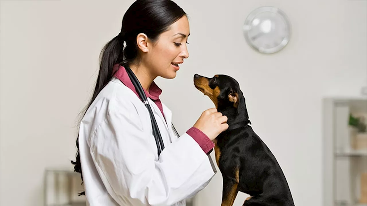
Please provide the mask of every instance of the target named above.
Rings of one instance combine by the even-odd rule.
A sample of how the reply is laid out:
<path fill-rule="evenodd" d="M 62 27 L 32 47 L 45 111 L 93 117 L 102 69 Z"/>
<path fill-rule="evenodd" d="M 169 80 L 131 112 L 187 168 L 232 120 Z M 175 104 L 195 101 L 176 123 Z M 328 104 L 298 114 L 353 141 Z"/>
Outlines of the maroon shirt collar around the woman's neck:
<path fill-rule="evenodd" d="M 130 77 L 127 74 L 127 71 L 126 71 L 125 67 L 116 64 L 113 67 L 113 70 L 114 71 L 118 70 L 115 73 L 115 77 L 118 78 L 124 85 L 126 85 L 126 87 L 130 88 L 139 97 L 138 92 L 136 91 L 134 85 L 132 84 L 132 82 L 130 80 Z M 146 95 L 147 98 L 157 100 L 157 99 L 159 99 L 159 95 L 162 93 L 162 90 L 153 81 L 152 84 L 149 87 L 149 92 L 147 92 L 145 89 L 144 89 L 144 92 L 145 92 L 145 95 Z M 140 97 L 139 97 L 139 99 L 140 99 Z"/>

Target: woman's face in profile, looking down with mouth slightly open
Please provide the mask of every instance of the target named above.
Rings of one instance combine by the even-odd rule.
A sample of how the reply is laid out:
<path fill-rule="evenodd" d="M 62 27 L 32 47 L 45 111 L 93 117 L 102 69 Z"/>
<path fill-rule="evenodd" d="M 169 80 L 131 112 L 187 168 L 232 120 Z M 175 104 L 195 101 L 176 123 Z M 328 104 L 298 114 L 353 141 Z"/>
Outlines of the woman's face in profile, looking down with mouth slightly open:
<path fill-rule="evenodd" d="M 189 35 L 189 21 L 185 15 L 173 23 L 166 32 L 161 33 L 157 41 L 146 41 L 146 47 L 141 47 L 143 65 L 153 76 L 169 79 L 176 77 L 179 64 L 189 57 L 187 49 Z"/>

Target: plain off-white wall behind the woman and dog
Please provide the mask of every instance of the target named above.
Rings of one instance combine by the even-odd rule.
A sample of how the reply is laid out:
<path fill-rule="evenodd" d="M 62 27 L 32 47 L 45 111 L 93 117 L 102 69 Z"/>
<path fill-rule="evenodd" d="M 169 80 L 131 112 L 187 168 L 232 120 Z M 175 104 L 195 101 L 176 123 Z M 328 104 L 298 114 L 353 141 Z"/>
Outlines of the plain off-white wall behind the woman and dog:
<path fill-rule="evenodd" d="M 193 87 L 193 74 L 235 77 L 296 205 L 321 206 L 321 98 L 358 96 L 367 84 L 367 1 L 176 2 L 190 16 L 190 58 L 177 78 L 156 82 L 179 132 L 213 106 Z M 71 167 L 77 115 L 92 91 L 99 52 L 119 33 L 131 3 L 0 1 L 1 206 L 42 205 L 45 167 Z M 241 31 L 249 12 L 264 5 L 279 7 L 292 23 L 290 43 L 274 55 L 253 51 Z M 218 173 L 198 205 L 219 205 L 221 185 Z M 235 205 L 246 197 L 239 194 Z"/>

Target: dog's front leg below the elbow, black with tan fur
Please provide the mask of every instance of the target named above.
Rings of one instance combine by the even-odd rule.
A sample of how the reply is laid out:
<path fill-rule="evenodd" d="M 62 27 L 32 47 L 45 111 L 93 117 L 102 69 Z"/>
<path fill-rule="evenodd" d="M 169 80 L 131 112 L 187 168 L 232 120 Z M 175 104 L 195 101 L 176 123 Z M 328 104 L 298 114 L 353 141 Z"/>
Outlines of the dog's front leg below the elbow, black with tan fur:
<path fill-rule="evenodd" d="M 232 206 L 235 202 L 238 194 L 238 183 L 239 183 L 239 169 L 236 168 L 233 176 L 223 176 L 223 194 L 222 194 L 222 205 L 221 206 Z"/>

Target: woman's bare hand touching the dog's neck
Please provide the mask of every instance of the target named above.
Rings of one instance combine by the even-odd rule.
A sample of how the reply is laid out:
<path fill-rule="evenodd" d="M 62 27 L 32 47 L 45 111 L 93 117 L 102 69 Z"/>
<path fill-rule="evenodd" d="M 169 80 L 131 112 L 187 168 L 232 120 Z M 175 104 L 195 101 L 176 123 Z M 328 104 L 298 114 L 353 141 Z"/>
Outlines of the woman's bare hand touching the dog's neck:
<path fill-rule="evenodd" d="M 221 132 L 228 129 L 227 120 L 228 118 L 218 112 L 216 108 L 210 108 L 201 113 L 194 127 L 200 129 L 213 141 Z"/>

